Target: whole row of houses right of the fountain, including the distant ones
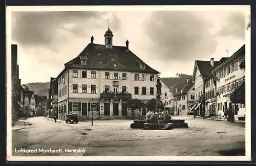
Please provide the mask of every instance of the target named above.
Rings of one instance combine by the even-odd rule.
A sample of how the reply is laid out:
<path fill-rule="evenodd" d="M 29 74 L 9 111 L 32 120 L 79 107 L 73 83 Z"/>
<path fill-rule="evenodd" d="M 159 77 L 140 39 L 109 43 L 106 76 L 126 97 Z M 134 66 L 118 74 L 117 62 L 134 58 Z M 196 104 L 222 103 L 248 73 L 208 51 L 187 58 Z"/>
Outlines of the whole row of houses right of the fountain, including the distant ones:
<path fill-rule="evenodd" d="M 245 83 L 245 68 L 239 67 L 245 60 L 245 44 L 230 57 L 219 61 L 196 60 L 193 76 L 186 81 L 172 84 L 164 78 L 175 99 L 174 114 L 226 118 L 227 110 L 234 112 L 235 120 L 245 116 L 245 105 L 231 103 L 229 95 L 234 88 Z M 174 79 L 174 78 L 171 78 Z M 205 104 L 202 104 L 202 98 Z M 203 106 L 204 105 L 204 106 Z"/>

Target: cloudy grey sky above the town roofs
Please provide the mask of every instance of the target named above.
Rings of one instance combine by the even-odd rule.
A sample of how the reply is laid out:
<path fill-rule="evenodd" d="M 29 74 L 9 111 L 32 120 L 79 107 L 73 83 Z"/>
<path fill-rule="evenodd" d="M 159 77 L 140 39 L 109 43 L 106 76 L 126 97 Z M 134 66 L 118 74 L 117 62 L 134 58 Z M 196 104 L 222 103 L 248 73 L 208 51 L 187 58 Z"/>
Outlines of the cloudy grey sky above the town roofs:
<path fill-rule="evenodd" d="M 48 82 L 91 41 L 104 44 L 111 18 L 113 44 L 125 46 L 161 77 L 192 75 L 195 60 L 219 60 L 245 43 L 241 11 L 44 11 L 12 12 L 22 83 Z"/>

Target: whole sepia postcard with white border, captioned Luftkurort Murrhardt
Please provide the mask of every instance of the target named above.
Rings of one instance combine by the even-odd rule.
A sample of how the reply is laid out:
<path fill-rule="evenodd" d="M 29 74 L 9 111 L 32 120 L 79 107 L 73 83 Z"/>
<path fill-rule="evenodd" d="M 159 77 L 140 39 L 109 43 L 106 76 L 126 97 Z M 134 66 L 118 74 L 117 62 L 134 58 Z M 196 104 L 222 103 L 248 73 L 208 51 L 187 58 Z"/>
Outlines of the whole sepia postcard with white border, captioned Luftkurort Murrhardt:
<path fill-rule="evenodd" d="M 8 160 L 250 160 L 250 6 L 6 11 Z"/>

